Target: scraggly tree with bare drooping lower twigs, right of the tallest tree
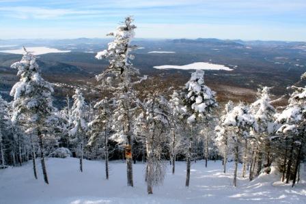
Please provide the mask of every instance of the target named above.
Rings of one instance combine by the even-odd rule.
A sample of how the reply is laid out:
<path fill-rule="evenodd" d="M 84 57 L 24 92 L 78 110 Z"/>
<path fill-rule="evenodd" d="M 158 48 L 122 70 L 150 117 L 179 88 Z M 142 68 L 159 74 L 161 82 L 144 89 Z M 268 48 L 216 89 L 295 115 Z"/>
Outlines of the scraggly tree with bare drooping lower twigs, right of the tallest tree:
<path fill-rule="evenodd" d="M 163 151 L 169 135 L 168 102 L 160 93 L 148 94 L 141 106 L 141 113 L 135 124 L 137 139 L 145 143 L 147 165 L 145 181 L 148 194 L 153 193 L 153 186 L 161 184 L 165 177 Z"/>

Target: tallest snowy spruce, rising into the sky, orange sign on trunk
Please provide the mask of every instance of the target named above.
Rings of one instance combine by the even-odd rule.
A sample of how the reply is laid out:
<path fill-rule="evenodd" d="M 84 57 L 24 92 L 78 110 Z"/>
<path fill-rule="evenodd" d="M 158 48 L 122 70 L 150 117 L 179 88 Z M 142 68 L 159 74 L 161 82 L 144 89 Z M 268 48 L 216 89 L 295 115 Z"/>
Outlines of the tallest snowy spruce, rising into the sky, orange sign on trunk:
<path fill-rule="evenodd" d="M 120 135 L 120 142 L 122 139 L 126 143 L 126 150 L 133 152 L 133 106 L 135 105 L 135 91 L 131 82 L 131 76 L 138 74 L 138 70 L 133 68 L 130 59 L 134 59 L 130 55 L 130 51 L 136 48 L 131 46 L 130 42 L 134 37 L 133 18 L 126 17 L 120 27 L 116 31 L 109 33 L 115 39 L 108 44 L 107 50 L 97 53 L 97 59 L 109 59 L 109 66 L 104 72 L 96 76 L 98 81 L 102 82 L 104 89 L 113 91 L 116 99 L 117 108 L 115 109 L 114 117 L 117 117 L 116 131 L 117 136 Z M 126 158 L 127 184 L 133 186 L 133 159 L 132 155 L 128 154 Z"/>

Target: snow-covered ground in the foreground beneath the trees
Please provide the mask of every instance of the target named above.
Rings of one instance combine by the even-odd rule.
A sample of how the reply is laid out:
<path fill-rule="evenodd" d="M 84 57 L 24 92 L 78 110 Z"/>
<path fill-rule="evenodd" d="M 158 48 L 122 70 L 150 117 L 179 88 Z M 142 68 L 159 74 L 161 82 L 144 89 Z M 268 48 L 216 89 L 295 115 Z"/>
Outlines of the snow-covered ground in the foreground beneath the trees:
<path fill-rule="evenodd" d="M 229 173 L 223 173 L 220 161 L 209 162 L 207 169 L 203 161 L 197 161 L 191 166 L 191 183 L 186 188 L 186 164 L 177 162 L 176 174 L 172 175 L 168 166 L 163 186 L 148 195 L 142 163 L 133 165 L 133 188 L 126 186 L 126 164 L 122 161 L 111 162 L 107 181 L 103 162 L 85 160 L 81 173 L 76 158 L 48 158 L 49 185 L 44 184 L 39 160 L 37 163 L 38 180 L 33 178 L 31 162 L 0 170 L 0 203 L 306 203 L 304 166 L 302 181 L 295 188 L 280 184 L 276 174 L 260 175 L 251 182 L 238 177 L 234 188 L 232 163 Z"/>

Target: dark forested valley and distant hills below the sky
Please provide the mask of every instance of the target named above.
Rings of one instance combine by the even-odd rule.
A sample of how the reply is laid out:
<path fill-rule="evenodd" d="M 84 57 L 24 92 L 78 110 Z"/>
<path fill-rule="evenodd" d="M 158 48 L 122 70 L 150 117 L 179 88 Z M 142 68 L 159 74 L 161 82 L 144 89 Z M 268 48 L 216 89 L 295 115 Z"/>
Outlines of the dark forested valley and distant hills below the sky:
<path fill-rule="evenodd" d="M 30 47 L 48 46 L 69 53 L 48 53 L 39 55 L 38 63 L 44 78 L 52 83 L 66 85 L 66 91 L 58 99 L 70 93 L 70 87 L 88 87 L 95 83 L 94 76 L 108 64 L 97 60 L 95 53 L 104 49 L 110 39 L 80 38 L 74 40 L 3 40 L 0 46 L 0 91 L 8 97 L 8 91 L 16 82 L 16 72 L 10 69 L 20 55 L 1 53 L 21 45 Z M 14 46 L 7 46 L 15 44 Z M 286 87 L 299 81 L 306 71 L 305 42 L 264 42 L 242 40 L 144 40 L 136 39 L 139 49 L 135 50 L 133 64 L 141 74 L 149 76 L 145 84 L 159 81 L 161 91 L 184 85 L 192 70 L 158 70 L 154 66 L 188 65 L 208 62 L 225 65 L 233 71 L 206 70 L 206 82 L 217 91 L 219 102 L 227 100 L 253 102 L 260 85 L 273 87 L 273 100 L 286 94 Z M 286 104 L 281 100 L 279 105 Z"/>

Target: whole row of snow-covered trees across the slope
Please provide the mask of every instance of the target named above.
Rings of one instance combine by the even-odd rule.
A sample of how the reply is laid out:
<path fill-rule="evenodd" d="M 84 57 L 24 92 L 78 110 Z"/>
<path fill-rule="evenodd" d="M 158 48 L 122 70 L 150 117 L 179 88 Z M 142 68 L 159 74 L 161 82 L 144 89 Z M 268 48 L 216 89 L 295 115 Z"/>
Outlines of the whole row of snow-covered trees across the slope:
<path fill-rule="evenodd" d="M 109 179 L 109 159 L 126 159 L 128 186 L 133 186 L 133 158 L 146 162 L 145 181 L 148 193 L 161 184 L 167 160 L 175 173 L 176 160 L 186 160 L 186 186 L 189 186 L 191 162 L 205 159 L 234 160 L 234 186 L 238 163 L 242 177 L 252 180 L 260 173 L 270 173 L 275 164 L 282 181 L 298 182 L 299 169 L 305 158 L 306 89 L 293 89 L 289 104 L 277 112 L 270 104 L 269 88 L 258 91 L 253 104 L 228 102 L 219 111 L 215 92 L 205 85 L 204 71 L 197 70 L 180 90 L 171 94 L 159 89 L 136 91 L 133 87 L 147 79 L 139 76 L 130 60 L 130 44 L 135 33 L 133 19 L 127 17 L 114 33 L 107 50 L 96 58 L 109 59 L 98 76 L 96 93 L 100 100 L 86 102 L 82 89 L 76 89 L 73 102 L 58 110 L 53 106 L 53 88 L 40 76 L 36 57 L 25 49 L 21 61 L 12 65 L 20 77 L 11 91 L 10 103 L 0 98 L 1 168 L 33 162 L 37 179 L 36 158 L 40 158 L 44 181 L 48 184 L 45 156 L 104 159 Z M 305 76 L 302 76 L 302 80 Z M 158 85 L 156 85 L 158 87 Z M 142 96 L 141 99 L 139 96 Z M 102 97 L 103 96 L 103 97 Z M 107 97 L 105 97 L 107 96 Z M 72 104 L 72 106 L 71 106 Z M 249 175 L 247 175 L 249 171 Z"/>

